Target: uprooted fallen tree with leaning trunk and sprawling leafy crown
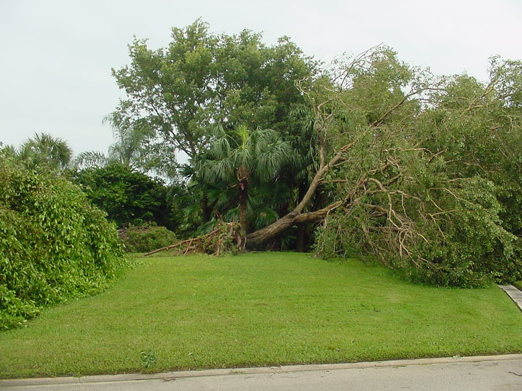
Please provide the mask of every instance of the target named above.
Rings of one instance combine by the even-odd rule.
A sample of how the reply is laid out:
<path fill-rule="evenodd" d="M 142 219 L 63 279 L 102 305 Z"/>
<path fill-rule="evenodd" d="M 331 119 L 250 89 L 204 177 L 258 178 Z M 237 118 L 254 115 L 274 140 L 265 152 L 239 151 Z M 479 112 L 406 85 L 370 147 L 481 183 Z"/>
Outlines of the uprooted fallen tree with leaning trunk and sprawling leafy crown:
<path fill-rule="evenodd" d="M 244 246 L 323 221 L 316 253 L 326 258 L 372 254 L 435 285 L 522 278 L 512 213 L 522 208 L 522 64 L 493 59 L 490 71 L 488 84 L 435 78 L 377 47 L 298 83 L 313 111 L 315 171 L 291 212 Z M 311 207 L 319 187 L 329 202 Z"/>

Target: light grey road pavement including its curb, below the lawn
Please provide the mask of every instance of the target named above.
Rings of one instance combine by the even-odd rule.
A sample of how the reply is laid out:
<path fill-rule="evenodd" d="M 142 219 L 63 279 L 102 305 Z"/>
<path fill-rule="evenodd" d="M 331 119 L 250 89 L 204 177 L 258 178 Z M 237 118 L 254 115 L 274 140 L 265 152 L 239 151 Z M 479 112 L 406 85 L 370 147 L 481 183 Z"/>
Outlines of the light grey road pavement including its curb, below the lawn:
<path fill-rule="evenodd" d="M 522 355 L 180 371 L 0 381 L 30 390 L 522 390 Z"/>

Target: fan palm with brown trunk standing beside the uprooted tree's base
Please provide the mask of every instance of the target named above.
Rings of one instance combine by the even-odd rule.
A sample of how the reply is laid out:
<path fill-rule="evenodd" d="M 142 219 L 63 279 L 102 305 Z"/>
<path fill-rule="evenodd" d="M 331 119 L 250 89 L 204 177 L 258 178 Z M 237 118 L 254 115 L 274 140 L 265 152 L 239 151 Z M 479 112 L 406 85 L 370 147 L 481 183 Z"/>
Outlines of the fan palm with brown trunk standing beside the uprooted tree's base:
<path fill-rule="evenodd" d="M 279 133 L 271 129 L 248 130 L 239 126 L 231 134 L 218 127 L 215 140 L 206 158 L 198 165 L 201 176 L 211 182 L 216 179 L 238 186 L 239 222 L 241 231 L 248 230 L 248 184 L 252 179 L 266 182 L 290 160 L 290 144 L 282 141 Z"/>

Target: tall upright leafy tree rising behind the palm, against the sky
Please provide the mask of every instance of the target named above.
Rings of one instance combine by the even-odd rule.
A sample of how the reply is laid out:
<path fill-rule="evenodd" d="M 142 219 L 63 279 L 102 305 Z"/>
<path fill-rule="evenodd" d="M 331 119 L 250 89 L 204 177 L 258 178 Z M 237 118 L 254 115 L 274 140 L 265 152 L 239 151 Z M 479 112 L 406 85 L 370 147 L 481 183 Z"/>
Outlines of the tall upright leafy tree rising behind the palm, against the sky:
<path fill-rule="evenodd" d="M 196 20 L 173 28 L 167 47 L 152 50 L 146 40 L 135 39 L 129 56 L 131 64 L 113 69 L 126 97 L 111 116 L 150 129 L 190 162 L 206 153 L 217 125 L 227 131 L 240 125 L 274 129 L 294 146 L 309 145 L 300 137 L 306 103 L 294 83 L 312 76 L 316 63 L 286 37 L 268 46 L 250 30 L 213 34 L 207 23 Z M 205 189 L 200 194 L 206 223 L 212 201 Z"/>

